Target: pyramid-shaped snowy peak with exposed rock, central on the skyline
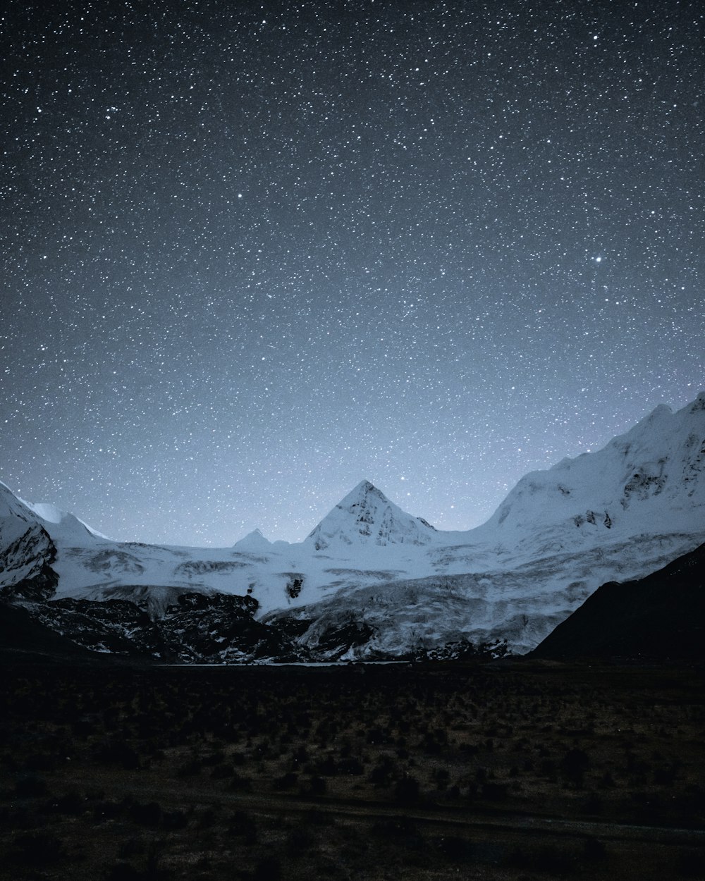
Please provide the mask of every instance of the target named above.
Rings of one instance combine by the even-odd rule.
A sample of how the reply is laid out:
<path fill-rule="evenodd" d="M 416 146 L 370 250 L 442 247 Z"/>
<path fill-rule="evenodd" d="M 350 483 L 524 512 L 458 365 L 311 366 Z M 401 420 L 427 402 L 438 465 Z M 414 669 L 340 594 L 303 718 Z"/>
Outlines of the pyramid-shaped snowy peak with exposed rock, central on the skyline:
<path fill-rule="evenodd" d="M 316 551 L 330 546 L 430 544 L 436 530 L 421 517 L 406 514 L 383 492 L 362 480 L 305 539 Z"/>

